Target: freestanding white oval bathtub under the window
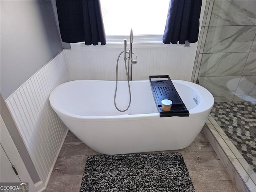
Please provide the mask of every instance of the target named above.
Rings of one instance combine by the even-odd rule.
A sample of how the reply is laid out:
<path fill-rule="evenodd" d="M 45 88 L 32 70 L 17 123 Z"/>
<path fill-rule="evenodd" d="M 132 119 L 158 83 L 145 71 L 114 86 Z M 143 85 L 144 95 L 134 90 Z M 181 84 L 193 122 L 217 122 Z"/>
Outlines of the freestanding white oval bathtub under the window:
<path fill-rule="evenodd" d="M 102 154 L 178 150 L 189 146 L 202 130 L 214 104 L 212 94 L 198 84 L 172 80 L 189 117 L 160 118 L 149 81 L 131 81 L 131 106 L 114 107 L 115 81 L 76 80 L 57 86 L 50 104 L 82 142 Z M 126 81 L 118 82 L 116 104 L 126 108 Z"/>

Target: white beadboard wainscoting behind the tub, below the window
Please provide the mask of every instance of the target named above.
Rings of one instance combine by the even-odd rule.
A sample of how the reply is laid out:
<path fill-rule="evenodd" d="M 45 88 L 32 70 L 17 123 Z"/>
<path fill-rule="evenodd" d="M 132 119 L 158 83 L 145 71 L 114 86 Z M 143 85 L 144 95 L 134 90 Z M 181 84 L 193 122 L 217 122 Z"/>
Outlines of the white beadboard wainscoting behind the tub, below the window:
<path fill-rule="evenodd" d="M 132 80 L 148 80 L 149 75 L 169 75 L 171 79 L 191 80 L 196 44 L 136 47 L 137 64 L 133 65 Z M 71 80 L 116 80 L 116 61 L 122 48 L 95 46 L 65 50 Z M 124 56 L 120 56 L 118 80 L 126 80 Z M 128 62 L 128 60 L 127 60 Z"/>

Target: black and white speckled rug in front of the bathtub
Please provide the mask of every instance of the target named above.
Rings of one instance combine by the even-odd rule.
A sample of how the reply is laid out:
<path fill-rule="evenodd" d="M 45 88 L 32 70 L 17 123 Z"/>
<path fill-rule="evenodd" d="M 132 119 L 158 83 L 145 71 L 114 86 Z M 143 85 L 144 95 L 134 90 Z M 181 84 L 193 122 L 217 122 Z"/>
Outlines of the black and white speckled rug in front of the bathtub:
<path fill-rule="evenodd" d="M 80 192 L 195 192 L 180 153 L 89 156 Z"/>

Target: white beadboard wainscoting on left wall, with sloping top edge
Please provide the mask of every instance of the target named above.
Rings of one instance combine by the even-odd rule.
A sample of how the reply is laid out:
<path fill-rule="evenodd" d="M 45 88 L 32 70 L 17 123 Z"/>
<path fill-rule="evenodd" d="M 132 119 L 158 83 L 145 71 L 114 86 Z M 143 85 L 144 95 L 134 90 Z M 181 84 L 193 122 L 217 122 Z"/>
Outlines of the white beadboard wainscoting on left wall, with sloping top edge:
<path fill-rule="evenodd" d="M 70 80 L 62 51 L 9 98 L 6 104 L 44 185 L 47 184 L 67 128 L 52 110 L 50 92 Z"/>

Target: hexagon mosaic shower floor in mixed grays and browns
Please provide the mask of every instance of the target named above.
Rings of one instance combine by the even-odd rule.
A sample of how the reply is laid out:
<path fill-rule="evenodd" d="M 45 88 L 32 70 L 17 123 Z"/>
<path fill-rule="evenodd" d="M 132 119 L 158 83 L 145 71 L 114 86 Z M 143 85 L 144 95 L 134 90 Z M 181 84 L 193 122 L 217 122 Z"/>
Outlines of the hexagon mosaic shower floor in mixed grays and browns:
<path fill-rule="evenodd" d="M 256 105 L 215 102 L 211 115 L 256 172 Z"/>

